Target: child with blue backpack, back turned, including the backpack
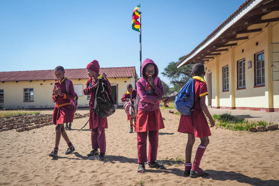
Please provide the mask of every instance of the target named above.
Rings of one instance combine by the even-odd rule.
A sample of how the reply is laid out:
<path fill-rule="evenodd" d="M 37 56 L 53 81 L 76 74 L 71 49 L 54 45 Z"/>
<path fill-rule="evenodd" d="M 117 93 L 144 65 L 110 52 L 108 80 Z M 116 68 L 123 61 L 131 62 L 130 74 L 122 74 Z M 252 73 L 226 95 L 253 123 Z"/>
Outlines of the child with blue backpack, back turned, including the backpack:
<path fill-rule="evenodd" d="M 209 118 L 210 127 L 215 125 L 205 104 L 205 96 L 208 95 L 208 91 L 206 82 L 203 79 L 204 75 L 205 71 L 203 64 L 194 64 L 192 67 L 193 78 L 186 83 L 176 96 L 171 96 L 164 101 L 165 107 L 168 107 L 166 103 L 175 100 L 176 109 L 182 114 L 180 117 L 178 132 L 188 134 L 188 141 L 185 149 L 184 175 L 191 177 L 209 175 L 203 171 L 203 169 L 199 168 L 203 153 L 209 144 L 208 136 L 211 135 L 205 115 Z M 201 139 L 201 144 L 198 146 L 192 164 L 191 156 L 195 137 Z"/>

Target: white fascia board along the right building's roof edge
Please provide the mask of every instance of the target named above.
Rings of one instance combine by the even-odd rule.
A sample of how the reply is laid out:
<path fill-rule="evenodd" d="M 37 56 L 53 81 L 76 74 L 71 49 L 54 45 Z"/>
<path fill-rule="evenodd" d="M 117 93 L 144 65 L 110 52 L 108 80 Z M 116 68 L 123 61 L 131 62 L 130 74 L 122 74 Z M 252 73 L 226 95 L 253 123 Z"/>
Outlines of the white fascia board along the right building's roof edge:
<path fill-rule="evenodd" d="M 214 33 L 205 43 L 203 43 L 200 47 L 198 47 L 190 56 L 188 56 L 183 62 L 181 62 L 177 68 L 181 67 L 184 63 L 186 63 L 189 59 L 196 56 L 197 53 L 199 53 L 201 50 L 203 50 L 205 47 L 207 47 L 210 43 L 212 43 L 214 40 L 216 40 L 222 33 L 224 33 L 230 26 L 235 24 L 239 19 L 241 19 L 246 13 L 248 13 L 250 10 L 252 10 L 257 4 L 262 2 L 263 0 L 253 0 L 250 1 L 247 5 L 245 5 L 244 8 L 242 8 L 239 12 L 237 12 L 236 15 L 234 15 L 230 21 L 228 21 L 226 24 L 224 24 L 219 30 Z"/>

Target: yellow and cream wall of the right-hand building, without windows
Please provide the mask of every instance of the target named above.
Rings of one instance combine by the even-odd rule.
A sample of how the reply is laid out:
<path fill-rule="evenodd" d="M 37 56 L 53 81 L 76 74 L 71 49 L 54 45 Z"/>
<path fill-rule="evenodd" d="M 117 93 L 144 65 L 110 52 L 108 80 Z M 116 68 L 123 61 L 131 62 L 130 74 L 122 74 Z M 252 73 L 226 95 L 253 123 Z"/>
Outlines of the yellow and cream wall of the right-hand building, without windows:
<path fill-rule="evenodd" d="M 221 55 L 205 63 L 205 78 L 207 78 L 208 73 L 211 72 L 212 74 L 213 107 L 279 108 L 279 81 L 271 81 L 270 49 L 271 43 L 279 42 L 279 23 L 273 22 L 269 26 L 265 26 L 266 24 L 262 24 L 262 32 L 249 34 L 248 40 L 237 41 L 237 46 L 230 47 L 227 52 L 222 52 Z M 254 27 L 259 28 L 258 25 L 252 25 L 248 29 Z M 247 34 L 237 35 L 237 37 L 243 36 L 247 36 Z M 258 42 L 258 45 L 256 45 L 256 42 Z M 265 54 L 265 85 L 264 87 L 254 87 L 254 55 L 261 51 L 264 51 Z M 242 59 L 245 59 L 246 87 L 237 90 L 237 61 Z M 249 61 L 251 61 L 251 68 L 248 69 Z M 225 65 L 228 65 L 229 69 L 228 92 L 223 92 L 222 67 Z M 218 79 L 217 76 L 219 76 Z M 208 104 L 207 100 L 206 103 Z"/>

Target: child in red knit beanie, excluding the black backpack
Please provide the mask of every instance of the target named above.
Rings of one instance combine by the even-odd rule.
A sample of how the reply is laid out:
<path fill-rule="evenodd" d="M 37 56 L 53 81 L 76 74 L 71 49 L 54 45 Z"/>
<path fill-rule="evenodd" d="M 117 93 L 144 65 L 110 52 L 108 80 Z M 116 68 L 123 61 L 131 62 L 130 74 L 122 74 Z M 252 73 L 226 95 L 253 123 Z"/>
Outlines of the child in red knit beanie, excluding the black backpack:
<path fill-rule="evenodd" d="M 98 160 L 105 159 L 105 128 L 108 128 L 107 118 L 99 118 L 96 112 L 92 112 L 95 103 L 96 91 L 100 79 L 103 77 L 104 82 L 108 87 L 109 93 L 112 93 L 110 82 L 108 81 L 107 75 L 105 73 L 99 74 L 100 65 L 97 60 L 90 62 L 87 65 L 87 74 L 90 77 L 86 83 L 86 88 L 83 90 L 84 95 L 90 96 L 89 106 L 90 106 L 90 117 L 89 117 L 89 128 L 91 129 L 91 144 L 92 151 L 87 154 L 87 156 L 98 155 L 98 149 L 100 149 L 100 155 Z M 92 112 L 92 113 L 91 113 Z"/>

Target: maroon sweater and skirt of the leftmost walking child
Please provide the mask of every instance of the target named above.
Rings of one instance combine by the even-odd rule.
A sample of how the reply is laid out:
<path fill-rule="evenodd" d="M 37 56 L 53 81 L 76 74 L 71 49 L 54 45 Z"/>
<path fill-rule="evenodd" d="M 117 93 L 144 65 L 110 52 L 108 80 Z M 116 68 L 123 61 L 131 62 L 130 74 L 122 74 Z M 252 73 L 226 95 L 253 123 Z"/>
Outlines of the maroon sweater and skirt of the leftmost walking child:
<path fill-rule="evenodd" d="M 69 94 L 67 94 L 66 90 L 66 80 L 64 78 L 61 82 L 57 80 L 54 84 L 53 92 L 56 88 L 60 87 L 63 96 L 58 95 L 55 98 L 54 93 L 52 93 L 53 102 L 55 102 L 55 107 L 53 110 L 53 124 L 64 124 L 64 123 L 71 123 L 74 119 L 74 109 L 71 107 L 70 99 L 75 99 L 75 91 L 74 85 L 72 81 L 69 84 Z"/>

